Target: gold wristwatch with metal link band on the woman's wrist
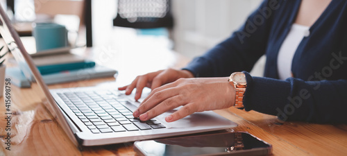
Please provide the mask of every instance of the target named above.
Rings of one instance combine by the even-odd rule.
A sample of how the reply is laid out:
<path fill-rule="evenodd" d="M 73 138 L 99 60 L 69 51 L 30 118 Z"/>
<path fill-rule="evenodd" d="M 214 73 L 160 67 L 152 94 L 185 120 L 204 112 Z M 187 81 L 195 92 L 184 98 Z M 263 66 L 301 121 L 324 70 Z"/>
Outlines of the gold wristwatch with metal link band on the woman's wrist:
<path fill-rule="evenodd" d="M 242 72 L 232 73 L 229 77 L 230 85 L 234 86 L 235 89 L 235 105 L 239 109 L 244 108 L 244 103 L 242 102 L 244 98 L 244 92 L 246 91 L 247 82 L 246 76 Z"/>

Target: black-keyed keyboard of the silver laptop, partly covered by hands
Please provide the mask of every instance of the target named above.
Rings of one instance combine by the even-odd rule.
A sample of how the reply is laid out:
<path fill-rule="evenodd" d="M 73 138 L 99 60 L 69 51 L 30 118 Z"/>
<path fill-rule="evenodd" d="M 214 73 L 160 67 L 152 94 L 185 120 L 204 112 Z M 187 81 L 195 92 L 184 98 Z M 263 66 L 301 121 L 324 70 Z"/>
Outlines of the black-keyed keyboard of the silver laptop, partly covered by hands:
<path fill-rule="evenodd" d="M 58 93 L 92 133 L 126 132 L 165 128 L 155 119 L 140 121 L 126 105 L 130 102 L 115 90 Z"/>

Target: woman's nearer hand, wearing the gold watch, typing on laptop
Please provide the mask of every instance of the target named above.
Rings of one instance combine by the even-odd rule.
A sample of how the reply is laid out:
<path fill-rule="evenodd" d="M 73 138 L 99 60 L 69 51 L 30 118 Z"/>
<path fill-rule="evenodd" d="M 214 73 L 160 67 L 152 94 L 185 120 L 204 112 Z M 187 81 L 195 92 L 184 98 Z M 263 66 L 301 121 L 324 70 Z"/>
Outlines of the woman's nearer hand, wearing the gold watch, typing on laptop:
<path fill-rule="evenodd" d="M 180 105 L 167 116 L 167 122 L 182 119 L 194 112 L 219 110 L 235 104 L 235 89 L 228 78 L 181 78 L 154 89 L 133 113 L 146 121 Z"/>

